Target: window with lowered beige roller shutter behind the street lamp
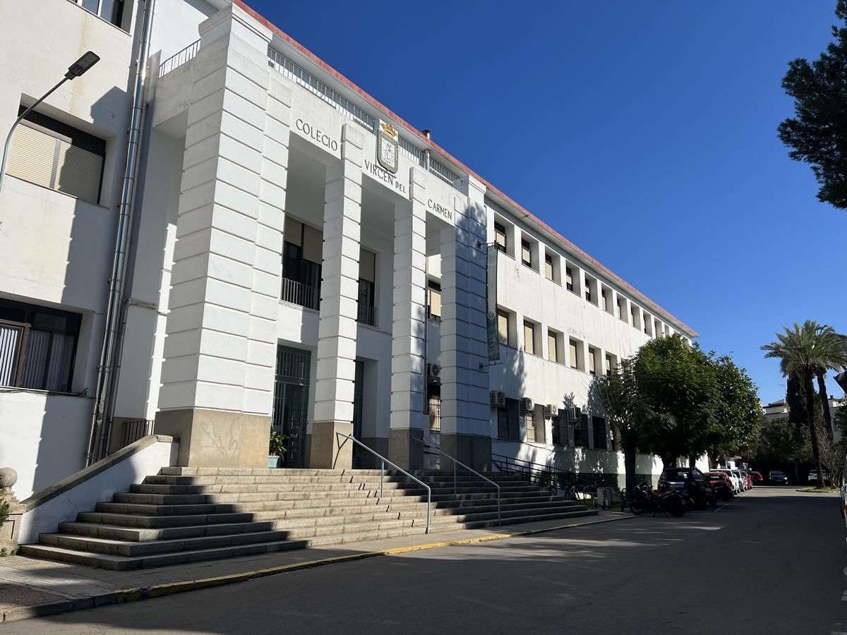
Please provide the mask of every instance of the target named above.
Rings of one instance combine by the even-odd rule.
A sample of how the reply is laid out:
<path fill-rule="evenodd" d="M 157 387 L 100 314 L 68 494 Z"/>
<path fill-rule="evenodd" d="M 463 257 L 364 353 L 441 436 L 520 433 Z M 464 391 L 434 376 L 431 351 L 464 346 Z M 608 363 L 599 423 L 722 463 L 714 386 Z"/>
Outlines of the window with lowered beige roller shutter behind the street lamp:
<path fill-rule="evenodd" d="M 24 110 L 21 106 L 19 113 Z M 14 129 L 6 171 L 97 204 L 105 160 L 106 141 L 33 112 Z"/>

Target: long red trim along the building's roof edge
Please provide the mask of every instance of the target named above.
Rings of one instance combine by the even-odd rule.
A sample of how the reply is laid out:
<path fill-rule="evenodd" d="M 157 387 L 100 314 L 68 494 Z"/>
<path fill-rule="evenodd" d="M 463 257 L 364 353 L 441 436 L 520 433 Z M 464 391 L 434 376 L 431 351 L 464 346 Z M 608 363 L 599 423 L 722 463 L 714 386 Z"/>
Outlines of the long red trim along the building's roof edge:
<path fill-rule="evenodd" d="M 335 70 L 334 68 L 329 66 L 328 63 L 324 62 L 323 59 L 318 58 L 317 55 L 315 55 L 313 52 L 309 51 L 300 42 L 296 41 L 294 38 L 292 38 L 287 33 L 285 33 L 285 31 L 281 30 L 279 26 L 271 23 L 270 20 L 265 18 L 263 15 L 257 14 L 257 12 L 255 10 L 253 10 L 252 8 L 248 7 L 243 2 L 243 0 L 232 0 L 232 2 L 233 2 L 233 4 L 235 4 L 235 6 L 242 8 L 247 14 L 252 15 L 253 18 L 257 19 L 263 25 L 267 26 L 268 29 L 274 31 L 274 34 L 279 36 L 280 39 L 288 42 L 292 47 L 296 48 L 297 51 L 302 52 L 303 55 L 305 55 L 307 58 L 309 58 L 313 63 L 317 64 L 321 69 L 324 69 L 324 71 L 326 71 L 329 75 L 332 75 L 333 77 L 335 77 L 336 80 L 339 80 L 344 86 L 346 86 L 350 90 L 356 92 L 358 95 L 363 97 L 363 99 L 366 102 L 370 103 L 372 106 L 374 106 L 374 108 L 378 108 L 379 110 L 381 110 L 383 113 L 387 114 L 392 119 L 395 119 L 399 124 L 405 126 L 407 128 L 407 130 L 410 130 L 415 135 L 418 135 L 418 139 L 420 139 L 420 141 L 424 141 L 425 144 L 431 146 L 436 152 L 439 152 L 440 154 L 442 154 L 443 156 L 448 158 L 452 163 L 455 163 L 457 166 L 462 168 L 468 174 L 473 175 L 473 177 L 475 179 L 479 179 L 479 181 L 482 182 L 489 190 L 494 191 L 497 196 L 501 196 L 501 198 L 503 200 L 505 200 L 510 205 L 512 205 L 516 209 L 518 209 L 518 211 L 520 213 L 523 213 L 523 215 L 526 216 L 527 218 L 529 218 L 530 220 L 532 220 L 533 223 L 540 225 L 543 229 L 550 232 L 552 235 L 556 236 L 556 238 L 558 240 L 562 240 L 562 242 L 565 243 L 571 249 L 573 249 L 573 251 L 576 251 L 579 254 L 579 257 L 584 258 L 585 260 L 587 260 L 588 262 L 593 264 L 596 268 L 601 269 L 603 272 L 607 273 L 613 279 L 617 280 L 617 282 L 620 283 L 624 288 L 632 291 L 634 293 L 634 295 L 638 295 L 639 298 L 641 298 L 641 300 L 646 301 L 646 302 L 652 304 L 653 306 L 656 306 L 660 310 L 662 310 L 662 312 L 664 312 L 668 317 L 672 318 L 681 327 L 683 327 L 684 329 L 688 329 L 693 337 L 698 337 L 699 334 L 694 329 L 691 329 L 691 327 L 689 327 L 687 324 L 685 324 L 682 320 L 678 319 L 678 317 L 675 317 L 673 315 L 673 313 L 668 312 L 666 309 L 662 308 L 662 306 L 659 306 L 658 304 L 656 304 L 656 302 L 651 301 L 650 298 L 648 298 L 646 295 L 644 295 L 639 290 L 637 290 L 632 284 L 629 284 L 626 280 L 624 280 L 623 278 L 618 276 L 617 273 L 612 272 L 611 269 L 607 268 L 601 262 L 598 262 L 597 260 L 595 260 L 594 257 L 589 256 L 588 253 L 586 253 L 585 251 L 580 249 L 578 246 L 574 245 L 573 242 L 571 242 L 570 240 L 567 240 L 567 238 L 565 238 L 563 235 L 559 234 L 559 232 L 557 232 L 556 229 L 553 229 L 550 225 L 546 224 L 543 220 L 541 220 L 540 218 L 535 216 L 533 213 L 529 212 L 528 209 L 526 209 L 522 205 L 519 205 L 518 202 L 515 202 L 514 200 L 512 200 L 512 198 L 510 196 L 507 196 L 502 191 L 500 191 L 498 188 L 496 188 L 494 185 L 491 185 L 489 183 L 489 181 L 487 181 L 486 179 L 479 176 L 479 174 L 474 172 L 471 168 L 468 168 L 467 165 L 465 165 L 464 163 L 459 161 L 456 157 L 453 157 L 453 155 L 451 155 L 450 152 L 447 152 L 444 148 L 442 148 L 441 146 L 439 146 L 438 144 L 433 142 L 431 139 L 427 139 L 412 124 L 407 123 L 407 121 L 405 119 L 400 117 L 398 114 L 396 114 L 390 108 L 387 108 L 385 105 L 383 105 L 382 103 L 380 103 L 379 101 L 374 99 L 374 97 L 371 97 L 370 95 L 368 95 L 367 92 L 363 91 L 361 88 L 356 86 L 351 80 L 348 80 L 344 75 L 341 75 L 337 70 Z"/>

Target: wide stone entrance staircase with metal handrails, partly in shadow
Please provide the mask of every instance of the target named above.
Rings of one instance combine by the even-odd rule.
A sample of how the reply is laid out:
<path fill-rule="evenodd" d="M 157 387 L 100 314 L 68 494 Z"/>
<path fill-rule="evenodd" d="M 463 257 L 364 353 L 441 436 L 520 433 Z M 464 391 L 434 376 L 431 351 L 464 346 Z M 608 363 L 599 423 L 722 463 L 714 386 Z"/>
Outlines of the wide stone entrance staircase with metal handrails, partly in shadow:
<path fill-rule="evenodd" d="M 416 472 L 432 488 L 430 532 L 497 522 L 497 494 L 473 474 Z M 504 524 L 597 513 L 501 473 Z M 424 533 L 426 489 L 379 470 L 164 467 L 95 511 L 42 533 L 22 555 L 127 570 Z"/>

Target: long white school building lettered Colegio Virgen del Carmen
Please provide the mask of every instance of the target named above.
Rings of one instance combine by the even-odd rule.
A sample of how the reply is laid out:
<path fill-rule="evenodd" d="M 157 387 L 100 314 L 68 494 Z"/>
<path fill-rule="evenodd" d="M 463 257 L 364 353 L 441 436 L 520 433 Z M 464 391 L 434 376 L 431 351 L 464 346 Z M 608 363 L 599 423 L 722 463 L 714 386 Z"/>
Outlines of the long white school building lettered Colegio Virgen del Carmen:
<path fill-rule="evenodd" d="M 352 433 L 403 467 L 432 464 L 424 439 L 477 468 L 623 472 L 592 378 L 696 333 L 240 0 L 158 0 L 92 428 L 147 4 L 43 4 L 0 7 L 0 130 L 86 48 L 102 61 L 19 126 L 0 192 L 19 495 L 82 467 L 92 429 L 95 458 L 153 429 L 192 466 L 263 466 L 274 428 L 291 467 L 368 466 Z"/>

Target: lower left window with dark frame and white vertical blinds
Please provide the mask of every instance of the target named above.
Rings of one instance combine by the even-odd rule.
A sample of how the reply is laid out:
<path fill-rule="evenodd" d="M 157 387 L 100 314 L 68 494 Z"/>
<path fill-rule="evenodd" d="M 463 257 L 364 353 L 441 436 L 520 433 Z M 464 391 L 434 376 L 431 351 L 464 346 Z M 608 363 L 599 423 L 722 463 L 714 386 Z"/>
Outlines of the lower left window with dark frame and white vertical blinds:
<path fill-rule="evenodd" d="M 70 392 L 81 317 L 0 301 L 0 385 Z"/>

